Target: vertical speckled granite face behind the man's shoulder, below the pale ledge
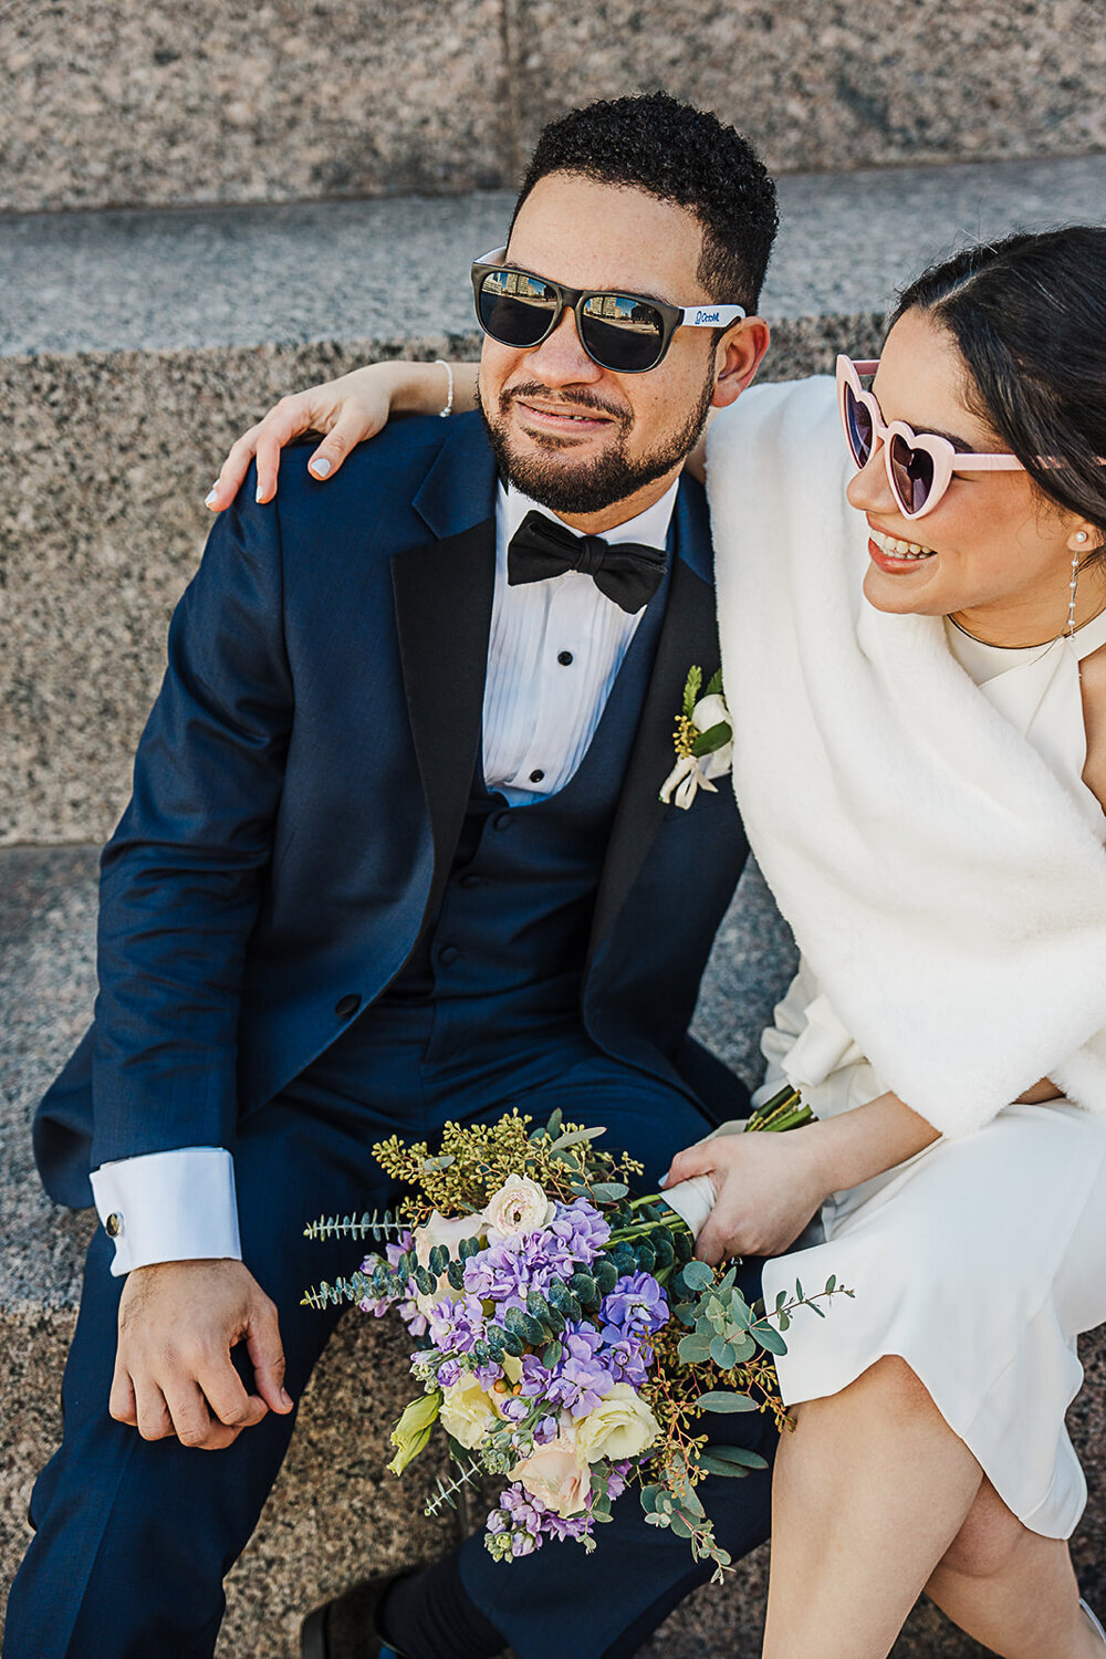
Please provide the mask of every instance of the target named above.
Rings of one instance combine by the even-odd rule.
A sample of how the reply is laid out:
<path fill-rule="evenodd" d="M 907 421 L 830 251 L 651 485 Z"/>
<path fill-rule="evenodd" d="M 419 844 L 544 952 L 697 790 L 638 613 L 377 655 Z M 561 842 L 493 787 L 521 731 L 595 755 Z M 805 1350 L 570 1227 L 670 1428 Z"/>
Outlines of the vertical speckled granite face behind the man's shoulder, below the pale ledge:
<path fill-rule="evenodd" d="M 793 320 L 773 373 L 877 340 L 871 315 Z M 0 357 L 0 844 L 106 839 L 227 446 L 282 390 L 401 350 L 476 342 Z"/>

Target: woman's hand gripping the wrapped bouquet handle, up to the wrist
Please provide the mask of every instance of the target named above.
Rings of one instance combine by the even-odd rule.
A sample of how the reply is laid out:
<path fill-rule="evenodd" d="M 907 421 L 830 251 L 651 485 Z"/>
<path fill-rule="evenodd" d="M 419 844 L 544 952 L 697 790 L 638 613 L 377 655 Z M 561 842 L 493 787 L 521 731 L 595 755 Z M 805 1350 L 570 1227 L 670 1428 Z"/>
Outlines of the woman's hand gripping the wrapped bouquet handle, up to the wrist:
<path fill-rule="evenodd" d="M 778 1256 L 794 1244 L 827 1196 L 806 1128 L 784 1135 L 720 1135 L 672 1160 L 665 1186 L 708 1175 L 718 1193 L 695 1254 Z"/>

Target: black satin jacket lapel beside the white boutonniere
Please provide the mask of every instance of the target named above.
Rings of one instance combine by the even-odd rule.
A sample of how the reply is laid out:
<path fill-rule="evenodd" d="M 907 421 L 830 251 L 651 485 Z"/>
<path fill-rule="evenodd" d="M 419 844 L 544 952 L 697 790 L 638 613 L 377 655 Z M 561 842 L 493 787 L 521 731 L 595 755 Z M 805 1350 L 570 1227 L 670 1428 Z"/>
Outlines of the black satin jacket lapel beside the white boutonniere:
<path fill-rule="evenodd" d="M 701 667 L 705 680 L 718 667 L 715 589 L 677 559 L 657 642 L 657 660 L 595 898 L 589 961 L 625 904 L 665 815 L 680 811 L 662 803 L 660 786 L 677 761 L 673 732 L 683 707 L 688 669 L 693 664 Z"/>

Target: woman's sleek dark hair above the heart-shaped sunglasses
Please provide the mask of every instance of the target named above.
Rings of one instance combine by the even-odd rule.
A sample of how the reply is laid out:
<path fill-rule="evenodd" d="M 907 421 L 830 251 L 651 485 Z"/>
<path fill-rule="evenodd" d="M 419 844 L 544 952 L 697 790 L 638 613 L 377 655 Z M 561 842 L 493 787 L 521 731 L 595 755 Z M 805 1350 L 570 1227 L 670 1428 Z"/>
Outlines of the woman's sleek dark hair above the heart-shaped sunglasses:
<path fill-rule="evenodd" d="M 1106 227 L 967 247 L 904 289 L 892 322 L 915 309 L 955 340 L 972 413 L 1106 542 Z"/>

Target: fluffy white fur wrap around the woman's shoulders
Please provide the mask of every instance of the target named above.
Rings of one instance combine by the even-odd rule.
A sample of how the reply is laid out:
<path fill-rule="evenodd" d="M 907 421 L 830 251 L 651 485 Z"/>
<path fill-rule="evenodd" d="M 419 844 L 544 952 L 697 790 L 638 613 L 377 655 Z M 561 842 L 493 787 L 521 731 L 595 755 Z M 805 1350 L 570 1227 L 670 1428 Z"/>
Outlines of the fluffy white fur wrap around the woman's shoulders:
<path fill-rule="evenodd" d="M 715 421 L 733 781 L 756 859 L 837 1017 L 943 1135 L 1041 1077 L 1106 1113 L 1106 849 L 948 652 L 874 611 L 834 387 Z"/>

